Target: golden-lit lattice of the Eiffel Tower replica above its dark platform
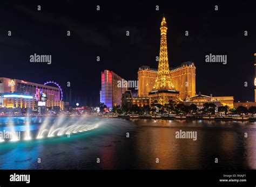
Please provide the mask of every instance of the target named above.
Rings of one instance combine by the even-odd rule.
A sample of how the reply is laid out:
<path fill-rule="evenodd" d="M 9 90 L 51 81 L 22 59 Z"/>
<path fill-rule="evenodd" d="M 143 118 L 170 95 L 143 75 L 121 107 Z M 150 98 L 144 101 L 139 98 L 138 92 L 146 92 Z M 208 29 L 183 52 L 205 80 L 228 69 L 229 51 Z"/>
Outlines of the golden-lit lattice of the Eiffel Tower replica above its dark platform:
<path fill-rule="evenodd" d="M 167 53 L 167 25 L 165 17 L 163 17 L 160 26 L 161 40 L 160 40 L 160 54 L 157 71 L 157 79 L 153 90 L 175 90 L 169 69 L 168 53 Z"/>

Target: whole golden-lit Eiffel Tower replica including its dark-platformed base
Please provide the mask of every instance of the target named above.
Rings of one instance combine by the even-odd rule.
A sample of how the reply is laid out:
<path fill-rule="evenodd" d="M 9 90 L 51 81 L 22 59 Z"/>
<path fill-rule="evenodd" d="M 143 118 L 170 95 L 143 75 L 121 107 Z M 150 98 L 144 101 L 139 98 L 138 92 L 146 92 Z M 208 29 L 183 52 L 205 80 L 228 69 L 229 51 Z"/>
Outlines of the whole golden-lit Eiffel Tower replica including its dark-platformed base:
<path fill-rule="evenodd" d="M 153 90 L 149 92 L 150 103 L 165 105 L 169 100 L 181 102 L 179 91 L 177 91 L 172 83 L 171 71 L 169 69 L 168 54 L 167 54 L 167 25 L 165 17 L 163 17 L 160 26 L 161 41 L 160 54 L 157 70 L 157 78 Z"/>

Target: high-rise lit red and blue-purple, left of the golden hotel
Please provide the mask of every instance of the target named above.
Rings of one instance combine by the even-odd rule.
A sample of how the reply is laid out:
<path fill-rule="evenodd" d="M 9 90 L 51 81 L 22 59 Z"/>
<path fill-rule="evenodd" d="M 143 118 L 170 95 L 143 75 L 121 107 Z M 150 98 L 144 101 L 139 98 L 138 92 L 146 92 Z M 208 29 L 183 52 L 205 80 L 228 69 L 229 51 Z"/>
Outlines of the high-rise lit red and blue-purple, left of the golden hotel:
<path fill-rule="evenodd" d="M 100 90 L 100 103 L 104 103 L 107 107 L 122 105 L 122 94 L 127 87 L 118 87 L 119 81 L 125 81 L 122 77 L 110 70 L 102 72 L 102 89 Z"/>

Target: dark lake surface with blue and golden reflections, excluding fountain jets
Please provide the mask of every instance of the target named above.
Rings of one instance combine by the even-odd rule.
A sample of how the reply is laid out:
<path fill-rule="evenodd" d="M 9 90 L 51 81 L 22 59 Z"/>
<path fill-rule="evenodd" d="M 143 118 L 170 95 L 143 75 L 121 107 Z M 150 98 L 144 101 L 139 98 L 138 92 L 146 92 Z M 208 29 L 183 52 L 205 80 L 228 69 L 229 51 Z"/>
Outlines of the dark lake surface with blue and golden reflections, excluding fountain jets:
<path fill-rule="evenodd" d="M 26 132 L 25 118 L 11 119 L 16 131 Z M 71 118 L 60 122 L 78 120 Z M 0 131 L 8 120 L 0 118 Z M 29 141 L 0 142 L 0 169 L 256 169 L 254 122 L 86 117 L 99 127 L 36 139 L 44 121 L 31 118 Z M 180 130 L 196 131 L 197 140 L 176 139 Z"/>

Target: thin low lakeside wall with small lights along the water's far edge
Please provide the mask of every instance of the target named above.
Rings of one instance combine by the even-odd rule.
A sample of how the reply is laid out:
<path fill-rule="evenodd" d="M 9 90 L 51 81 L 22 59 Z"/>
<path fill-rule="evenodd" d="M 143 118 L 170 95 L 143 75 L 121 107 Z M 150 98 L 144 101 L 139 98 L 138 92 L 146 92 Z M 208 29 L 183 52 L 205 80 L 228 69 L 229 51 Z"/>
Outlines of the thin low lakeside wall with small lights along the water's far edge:
<path fill-rule="evenodd" d="M 188 117 L 188 116 L 118 116 L 118 115 L 102 115 L 101 117 L 123 118 L 123 119 L 166 119 L 166 120 L 214 120 L 214 121 L 256 121 L 256 117 Z"/>

